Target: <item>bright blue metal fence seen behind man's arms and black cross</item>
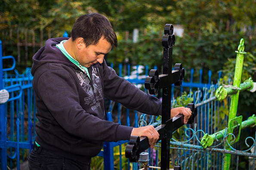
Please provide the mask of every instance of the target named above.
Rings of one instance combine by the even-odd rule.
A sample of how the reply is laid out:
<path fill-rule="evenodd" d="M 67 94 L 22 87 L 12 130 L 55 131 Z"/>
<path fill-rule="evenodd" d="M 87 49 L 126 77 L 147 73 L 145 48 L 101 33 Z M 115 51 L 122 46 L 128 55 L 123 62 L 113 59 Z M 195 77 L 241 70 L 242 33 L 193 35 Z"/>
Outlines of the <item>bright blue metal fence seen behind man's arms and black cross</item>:
<path fill-rule="evenodd" d="M 120 77 L 124 77 L 126 80 L 130 81 L 132 84 L 134 84 L 135 86 L 139 87 L 140 89 L 145 90 L 144 88 L 144 82 L 145 82 L 145 77 L 148 76 L 148 66 L 133 66 L 132 69 L 131 69 L 131 66 L 130 64 L 127 64 L 126 67 L 124 67 L 122 64 L 119 64 L 118 66 L 114 66 L 113 63 L 111 63 L 111 67 L 112 68 L 118 68 L 118 74 Z M 154 66 L 154 69 L 157 69 L 156 66 Z M 116 69 L 117 70 L 117 69 Z M 124 75 L 124 73 L 126 72 L 126 75 Z M 194 77 L 194 69 L 191 69 L 190 70 L 191 72 L 191 77 L 190 77 L 190 82 L 183 82 L 182 83 L 182 88 L 180 89 L 175 89 L 175 87 L 173 86 L 173 95 L 174 96 L 174 93 L 176 93 L 177 91 L 179 91 L 180 93 L 183 92 L 184 89 L 188 90 L 188 91 L 192 91 L 192 89 L 197 89 L 195 91 L 196 95 L 202 95 L 201 93 L 203 93 L 203 90 L 204 89 L 210 89 L 210 88 L 213 88 L 214 86 L 216 85 L 213 85 L 211 84 L 211 71 L 208 72 L 208 83 L 202 83 L 202 76 L 203 76 L 203 70 L 200 70 L 199 72 L 199 83 L 194 83 L 193 82 L 193 77 Z M 221 76 L 221 72 L 219 72 L 219 78 Z M 196 96 L 194 95 L 194 96 Z M 196 99 L 196 97 L 194 97 Z M 200 100 L 200 99 L 199 99 Z M 197 99 L 197 101 L 199 101 Z M 176 100 L 173 99 L 173 102 L 175 103 Z M 174 104 L 175 105 L 175 104 Z M 111 105 L 112 106 L 112 105 Z M 112 106 L 113 107 L 113 106 Z M 112 110 L 112 109 L 110 109 Z M 132 114 L 130 114 L 132 113 Z M 110 114 L 110 113 L 109 113 Z M 149 115 L 146 115 L 146 114 L 143 114 L 143 113 L 138 113 L 137 111 L 131 111 L 129 109 L 121 109 L 121 104 L 118 103 L 117 104 L 117 121 L 121 123 L 121 117 L 122 117 L 122 114 L 126 114 L 126 121 L 124 121 L 124 125 L 132 125 L 134 127 L 139 127 L 139 126 L 145 126 L 145 125 L 148 125 L 148 124 L 151 124 L 151 125 L 154 125 L 154 126 L 157 126 L 160 124 L 160 119 L 157 120 L 157 117 L 156 116 L 149 116 Z M 111 115 L 114 116 L 115 113 L 111 112 Z M 134 115 L 134 117 L 133 117 Z M 130 118 L 130 116 L 132 116 L 132 118 Z M 130 119 L 134 119 L 134 123 L 130 122 Z M 108 144 L 108 146 L 112 146 L 114 148 L 114 146 L 119 146 L 120 148 L 120 154 L 119 154 L 119 159 L 120 159 L 120 166 L 122 165 L 122 151 L 121 151 L 121 144 L 123 143 L 127 143 L 128 141 L 122 141 L 121 143 L 111 143 L 111 144 Z M 107 143 L 105 143 L 105 146 L 107 145 Z M 111 151 L 113 151 L 113 148 L 111 148 Z M 105 151 L 102 151 L 102 152 L 105 152 Z M 124 150 L 123 150 L 124 152 Z M 148 149 L 148 152 L 150 152 L 151 154 L 149 155 L 150 157 L 150 163 L 151 165 L 155 165 L 155 166 L 158 166 L 158 153 L 159 153 L 159 148 L 157 148 L 156 150 L 155 149 Z M 100 153 L 99 155 L 102 155 L 102 153 Z M 112 157 L 112 160 L 113 160 L 113 155 L 109 155 Z M 174 155 L 172 155 L 174 157 Z M 153 159 L 151 159 L 153 158 Z M 109 159 L 108 159 L 109 160 Z M 105 158 L 104 158 L 104 167 L 105 169 L 111 169 L 113 168 L 113 161 L 108 161 L 108 162 L 105 162 Z M 130 170 L 130 163 L 128 161 L 128 167 L 126 167 L 128 170 Z M 122 169 L 122 167 L 120 167 L 120 169 Z M 136 163 L 133 163 L 133 170 L 138 170 L 138 164 Z"/>

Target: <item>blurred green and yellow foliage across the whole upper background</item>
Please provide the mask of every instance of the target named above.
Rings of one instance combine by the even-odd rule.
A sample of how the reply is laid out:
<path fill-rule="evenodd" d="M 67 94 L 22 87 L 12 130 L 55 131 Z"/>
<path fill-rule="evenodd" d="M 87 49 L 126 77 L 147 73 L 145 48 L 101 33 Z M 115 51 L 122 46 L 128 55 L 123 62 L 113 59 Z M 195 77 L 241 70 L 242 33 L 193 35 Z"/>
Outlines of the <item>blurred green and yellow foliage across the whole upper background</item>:
<path fill-rule="evenodd" d="M 247 51 L 255 49 L 256 42 L 252 41 L 255 8 L 256 3 L 241 0 L 3 0 L 0 28 L 40 29 L 51 31 L 54 36 L 62 36 L 67 30 L 70 35 L 78 16 L 99 12 L 109 18 L 121 36 L 119 47 L 111 51 L 110 60 L 122 63 L 128 58 L 136 64 L 161 65 L 163 26 L 181 24 L 185 35 L 176 37 L 173 63 L 215 72 L 222 69 L 228 58 L 234 57 L 233 51 L 241 37 L 250 42 L 251 48 Z M 135 44 L 123 38 L 125 31 L 131 33 L 134 28 L 146 30 Z M 244 32 L 244 28 L 249 32 Z M 1 40 L 9 41 L 5 36 Z M 17 55 L 15 46 L 9 48 L 12 49 L 8 52 L 14 53 L 8 55 Z"/>

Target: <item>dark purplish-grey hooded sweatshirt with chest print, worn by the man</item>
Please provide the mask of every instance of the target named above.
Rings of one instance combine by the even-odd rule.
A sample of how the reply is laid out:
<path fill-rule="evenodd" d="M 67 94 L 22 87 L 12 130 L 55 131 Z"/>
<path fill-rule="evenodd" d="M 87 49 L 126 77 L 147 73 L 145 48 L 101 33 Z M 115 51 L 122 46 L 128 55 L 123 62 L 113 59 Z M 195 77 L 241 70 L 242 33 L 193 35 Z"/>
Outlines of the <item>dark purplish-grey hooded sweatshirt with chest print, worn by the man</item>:
<path fill-rule="evenodd" d="M 35 140 L 49 152 L 83 161 L 104 141 L 130 139 L 133 127 L 106 120 L 105 98 L 151 115 L 161 114 L 161 101 L 117 76 L 105 60 L 88 68 L 89 79 L 56 47 L 64 39 L 47 40 L 33 57 Z"/>

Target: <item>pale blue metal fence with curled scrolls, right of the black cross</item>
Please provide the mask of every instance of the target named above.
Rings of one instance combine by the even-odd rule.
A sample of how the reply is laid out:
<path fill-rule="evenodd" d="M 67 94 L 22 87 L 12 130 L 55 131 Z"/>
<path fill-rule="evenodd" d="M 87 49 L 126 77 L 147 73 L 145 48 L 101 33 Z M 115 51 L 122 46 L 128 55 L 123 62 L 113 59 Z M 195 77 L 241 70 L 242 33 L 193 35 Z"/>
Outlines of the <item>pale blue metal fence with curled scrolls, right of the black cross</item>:
<path fill-rule="evenodd" d="M 176 159 L 176 164 L 181 164 L 183 169 L 186 170 L 221 170 L 223 169 L 223 158 L 225 153 L 232 154 L 231 164 L 236 169 L 247 169 L 246 162 L 242 167 L 239 167 L 242 157 L 249 157 L 250 170 L 255 167 L 255 137 L 240 138 L 239 143 L 234 144 L 232 150 L 225 149 L 227 143 L 227 121 L 228 117 L 223 112 L 224 106 L 228 110 L 230 103 L 229 99 L 224 102 L 219 102 L 214 97 L 215 88 L 212 86 L 210 89 L 204 88 L 202 94 L 197 93 L 195 97 L 195 105 L 200 113 L 197 117 L 197 124 L 194 127 L 184 128 L 185 135 L 182 140 L 171 140 L 174 150 L 178 150 L 179 156 Z M 203 95 L 203 98 L 202 96 Z M 202 99 L 200 99 L 202 98 Z M 226 105 L 225 105 L 226 104 Z M 213 134 L 221 129 L 226 129 L 223 138 L 213 144 L 213 146 L 204 149 L 200 146 L 200 138 L 205 133 Z M 185 137 L 186 136 L 186 137 Z M 249 142 L 250 141 L 250 142 Z M 248 143 L 251 143 L 250 145 Z M 240 150 L 240 146 L 247 146 L 247 149 Z M 251 152 L 252 151 L 252 152 Z"/>

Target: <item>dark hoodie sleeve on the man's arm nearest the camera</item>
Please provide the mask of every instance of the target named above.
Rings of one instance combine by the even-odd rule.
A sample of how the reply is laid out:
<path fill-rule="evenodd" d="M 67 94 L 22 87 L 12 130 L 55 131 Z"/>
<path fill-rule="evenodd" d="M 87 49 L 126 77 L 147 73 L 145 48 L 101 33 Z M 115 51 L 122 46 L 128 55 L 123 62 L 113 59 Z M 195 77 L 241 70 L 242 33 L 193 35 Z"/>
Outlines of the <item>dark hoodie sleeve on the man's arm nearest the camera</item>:
<path fill-rule="evenodd" d="M 79 102 L 77 85 L 64 69 L 49 70 L 41 74 L 36 81 L 35 92 L 41 102 L 37 106 L 41 107 L 37 108 L 37 117 L 41 124 L 51 126 L 51 129 L 61 126 L 68 134 L 86 140 L 130 139 L 133 127 L 102 120 L 86 113 Z"/>

